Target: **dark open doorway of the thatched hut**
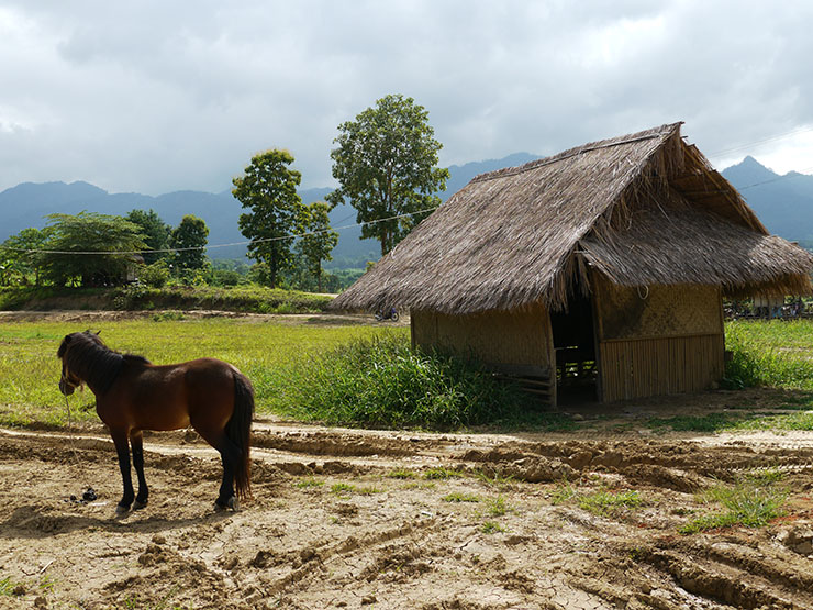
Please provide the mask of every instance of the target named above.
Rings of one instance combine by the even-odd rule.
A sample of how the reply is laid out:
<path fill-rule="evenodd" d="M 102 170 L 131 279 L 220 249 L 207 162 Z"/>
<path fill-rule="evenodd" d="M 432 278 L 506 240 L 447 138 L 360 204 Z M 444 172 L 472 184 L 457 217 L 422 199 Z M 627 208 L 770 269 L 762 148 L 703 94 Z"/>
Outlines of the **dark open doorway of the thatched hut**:
<path fill-rule="evenodd" d="M 550 313 L 556 351 L 556 399 L 559 403 L 598 400 L 593 303 L 571 296 L 567 311 Z"/>

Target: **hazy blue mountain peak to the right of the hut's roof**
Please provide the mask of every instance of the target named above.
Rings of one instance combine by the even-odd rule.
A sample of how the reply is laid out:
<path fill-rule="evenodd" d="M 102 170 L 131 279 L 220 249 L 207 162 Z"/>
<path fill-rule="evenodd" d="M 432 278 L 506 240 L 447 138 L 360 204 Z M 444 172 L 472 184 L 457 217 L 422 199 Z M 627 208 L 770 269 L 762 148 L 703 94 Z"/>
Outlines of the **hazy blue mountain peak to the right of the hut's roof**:
<path fill-rule="evenodd" d="M 754 157 L 722 171 L 769 232 L 786 240 L 813 240 L 813 176 L 779 175 Z"/>

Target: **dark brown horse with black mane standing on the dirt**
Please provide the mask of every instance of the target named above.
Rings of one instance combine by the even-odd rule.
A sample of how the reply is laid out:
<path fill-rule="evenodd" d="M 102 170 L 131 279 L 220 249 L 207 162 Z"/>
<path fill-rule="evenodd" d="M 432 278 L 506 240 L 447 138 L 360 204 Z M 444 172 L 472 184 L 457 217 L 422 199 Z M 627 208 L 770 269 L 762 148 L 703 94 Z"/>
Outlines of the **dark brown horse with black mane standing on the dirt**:
<path fill-rule="evenodd" d="M 96 395 L 96 411 L 113 437 L 124 483 L 116 512 L 127 512 L 131 504 L 134 510 L 147 504 L 143 430 L 191 425 L 220 452 L 223 481 L 215 508 L 237 510 L 237 498 L 250 493 L 254 390 L 234 366 L 214 358 L 156 366 L 142 356 L 110 350 L 98 333 L 90 331 L 66 335 L 56 355 L 63 363 L 59 391 L 69 396 L 87 384 Z M 137 496 L 127 442 L 138 477 Z"/>

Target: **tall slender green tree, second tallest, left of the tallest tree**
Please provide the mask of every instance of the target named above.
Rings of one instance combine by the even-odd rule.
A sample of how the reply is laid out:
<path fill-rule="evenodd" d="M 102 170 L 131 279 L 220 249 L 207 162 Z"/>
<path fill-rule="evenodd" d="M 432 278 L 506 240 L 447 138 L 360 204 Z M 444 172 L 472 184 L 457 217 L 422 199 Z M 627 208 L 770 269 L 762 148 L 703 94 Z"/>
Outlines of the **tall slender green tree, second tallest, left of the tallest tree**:
<path fill-rule="evenodd" d="M 297 186 L 302 175 L 288 166 L 293 156 L 272 148 L 252 157 L 243 176 L 234 178 L 232 195 L 250 212 L 241 214 L 240 230 L 248 244 L 248 256 L 268 268 L 268 282 L 277 287 L 279 273 L 292 260 L 293 237 L 303 220 Z"/>

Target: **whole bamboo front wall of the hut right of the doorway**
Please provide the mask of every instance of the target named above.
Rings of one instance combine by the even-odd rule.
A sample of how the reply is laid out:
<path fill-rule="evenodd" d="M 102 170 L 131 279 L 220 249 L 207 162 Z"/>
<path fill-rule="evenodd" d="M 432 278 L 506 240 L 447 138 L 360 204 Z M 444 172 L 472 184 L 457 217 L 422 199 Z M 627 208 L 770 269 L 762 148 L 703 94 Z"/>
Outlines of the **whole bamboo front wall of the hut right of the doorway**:
<path fill-rule="evenodd" d="M 603 402 L 709 388 L 723 377 L 722 296 L 708 286 L 595 281 Z"/>

